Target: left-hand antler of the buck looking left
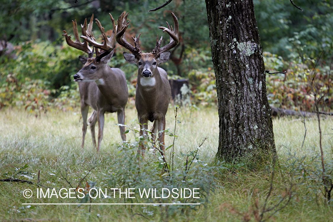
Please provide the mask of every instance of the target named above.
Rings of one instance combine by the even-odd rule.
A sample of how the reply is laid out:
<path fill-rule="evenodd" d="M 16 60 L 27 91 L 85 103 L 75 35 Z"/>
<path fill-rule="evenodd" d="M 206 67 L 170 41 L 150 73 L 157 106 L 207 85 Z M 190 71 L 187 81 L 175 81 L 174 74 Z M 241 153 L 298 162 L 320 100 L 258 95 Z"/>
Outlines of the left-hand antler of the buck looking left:
<path fill-rule="evenodd" d="M 92 36 L 93 19 L 94 19 L 94 14 L 91 16 L 88 27 L 87 27 L 87 19 L 85 19 L 84 25 L 81 25 L 82 35 Z M 88 42 L 84 41 L 83 43 L 81 43 L 81 41 L 79 39 L 79 32 L 78 32 L 76 20 L 74 20 L 74 21 L 72 20 L 72 23 L 73 23 L 73 33 L 74 33 L 74 37 L 75 37 L 75 42 L 73 42 L 71 40 L 72 36 L 68 35 L 67 32 L 64 30 L 63 31 L 64 34 L 62 34 L 62 35 L 65 36 L 67 44 L 75 49 L 88 53 L 89 57 L 92 57 L 93 50 L 88 45 Z"/>

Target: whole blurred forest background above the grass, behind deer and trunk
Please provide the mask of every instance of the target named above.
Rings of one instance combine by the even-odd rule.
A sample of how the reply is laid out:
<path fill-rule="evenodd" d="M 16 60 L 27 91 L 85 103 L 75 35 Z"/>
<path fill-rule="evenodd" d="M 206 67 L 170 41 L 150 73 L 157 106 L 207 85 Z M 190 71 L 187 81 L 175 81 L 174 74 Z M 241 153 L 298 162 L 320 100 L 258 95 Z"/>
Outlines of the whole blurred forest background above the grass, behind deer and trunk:
<path fill-rule="evenodd" d="M 314 96 L 309 81 L 325 95 L 322 111 L 333 109 L 333 1 L 298 0 L 303 11 L 289 1 L 254 0 L 255 15 L 267 74 L 267 96 L 271 106 L 296 111 L 313 111 Z M 179 20 L 180 44 L 172 50 L 163 68 L 169 79 L 189 79 L 191 106 L 217 103 L 214 69 L 211 62 L 209 29 L 203 0 L 173 0 L 168 7 L 148 12 L 158 1 L 132 0 L 8 0 L 0 8 L 0 110 L 24 107 L 36 116 L 52 109 L 71 110 L 79 106 L 79 92 L 73 75 L 82 67 L 83 52 L 67 46 L 63 30 L 72 34 L 72 20 L 100 20 L 109 36 L 115 19 L 129 12 L 127 39 L 142 33 L 143 51 L 155 47 L 157 27 L 165 26 L 170 12 Z M 79 30 L 80 32 L 80 30 Z M 96 24 L 95 36 L 100 36 Z M 165 36 L 164 41 L 168 41 Z M 74 38 L 74 37 L 73 37 Z M 100 38 L 101 40 L 101 38 Z M 6 48 L 7 47 L 7 48 Z M 116 44 L 110 65 L 121 68 L 128 80 L 134 104 L 136 66 L 126 63 L 124 49 Z M 184 103 L 184 102 L 183 102 Z"/>

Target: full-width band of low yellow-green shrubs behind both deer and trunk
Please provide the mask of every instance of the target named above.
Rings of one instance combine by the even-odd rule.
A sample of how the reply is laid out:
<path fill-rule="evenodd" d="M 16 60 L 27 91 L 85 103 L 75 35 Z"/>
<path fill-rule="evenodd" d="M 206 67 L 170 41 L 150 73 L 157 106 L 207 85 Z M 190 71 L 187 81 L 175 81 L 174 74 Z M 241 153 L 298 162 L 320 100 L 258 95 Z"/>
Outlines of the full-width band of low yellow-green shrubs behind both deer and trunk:
<path fill-rule="evenodd" d="M 121 68 L 128 80 L 130 97 L 135 97 L 137 67 L 128 64 L 122 49 L 110 62 L 112 67 Z M 185 52 L 181 69 L 182 76 L 169 75 L 169 78 L 189 79 L 190 103 L 211 106 L 217 104 L 216 81 L 209 49 L 188 49 Z M 82 67 L 79 50 L 48 42 L 25 43 L 17 47 L 17 58 L 0 57 L 0 106 L 21 106 L 38 114 L 48 109 L 72 109 L 79 106 L 77 83 L 73 75 Z M 312 111 L 314 96 L 311 87 L 319 87 L 319 95 L 325 95 L 322 110 L 333 109 L 333 71 L 324 62 L 297 57 L 285 61 L 282 57 L 265 52 L 267 70 L 286 71 L 286 74 L 267 74 L 267 96 L 271 106 Z M 162 65 L 169 74 L 175 74 L 172 62 Z M 133 104 L 133 103 L 131 103 Z"/>

